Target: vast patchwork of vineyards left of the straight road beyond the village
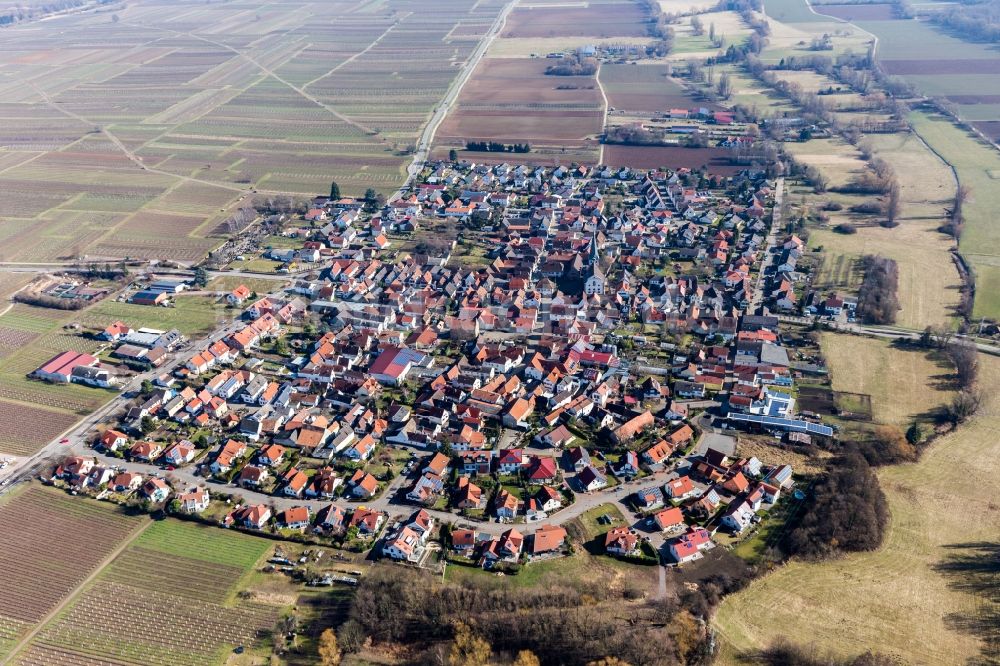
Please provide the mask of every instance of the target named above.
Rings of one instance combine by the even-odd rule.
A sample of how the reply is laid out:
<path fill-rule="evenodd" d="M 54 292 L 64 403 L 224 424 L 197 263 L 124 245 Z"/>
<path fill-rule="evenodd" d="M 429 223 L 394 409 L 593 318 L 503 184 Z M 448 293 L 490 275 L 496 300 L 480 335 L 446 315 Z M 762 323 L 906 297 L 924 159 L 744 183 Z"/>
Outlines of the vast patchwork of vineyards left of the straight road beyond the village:
<path fill-rule="evenodd" d="M 254 191 L 394 191 L 503 5 L 150 0 L 5 28 L 0 260 L 194 262 Z"/>

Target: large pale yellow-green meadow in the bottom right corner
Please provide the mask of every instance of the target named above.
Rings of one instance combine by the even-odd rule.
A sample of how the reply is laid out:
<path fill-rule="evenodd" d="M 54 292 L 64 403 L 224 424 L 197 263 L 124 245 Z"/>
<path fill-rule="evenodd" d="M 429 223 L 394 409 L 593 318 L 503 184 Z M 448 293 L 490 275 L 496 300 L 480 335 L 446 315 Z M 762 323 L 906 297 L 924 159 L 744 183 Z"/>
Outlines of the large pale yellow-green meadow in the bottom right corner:
<path fill-rule="evenodd" d="M 793 560 L 727 597 L 715 618 L 718 663 L 743 663 L 742 652 L 779 637 L 841 657 L 873 649 L 907 664 L 989 661 L 981 638 L 990 631 L 991 606 L 960 572 L 947 572 L 956 556 L 1000 539 L 1000 488 L 991 482 L 1000 473 L 993 451 L 1000 360 L 981 356 L 981 366 L 986 399 L 979 414 L 919 462 L 880 470 L 891 512 L 883 546 L 819 563 Z M 907 394 L 927 391 L 929 380 L 907 373 L 887 381 L 888 399 L 908 401 Z"/>

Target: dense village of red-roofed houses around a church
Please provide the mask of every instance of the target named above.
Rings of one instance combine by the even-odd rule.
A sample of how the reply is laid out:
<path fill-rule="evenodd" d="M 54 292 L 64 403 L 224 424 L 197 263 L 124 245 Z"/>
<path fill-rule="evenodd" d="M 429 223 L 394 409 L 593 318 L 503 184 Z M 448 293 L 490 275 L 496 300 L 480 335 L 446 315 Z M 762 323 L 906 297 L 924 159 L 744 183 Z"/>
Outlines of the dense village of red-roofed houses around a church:
<path fill-rule="evenodd" d="M 616 523 L 609 555 L 700 559 L 799 495 L 733 433 L 834 436 L 796 412 L 779 319 L 752 313 L 801 243 L 774 200 L 762 173 L 445 162 L 374 211 L 319 197 L 298 248 L 267 251 L 315 279 L 233 289 L 197 348 L 107 323 L 149 379 L 52 482 L 414 565 L 516 573 L 591 514 Z M 33 376 L 113 385 L 101 368 L 67 350 Z"/>

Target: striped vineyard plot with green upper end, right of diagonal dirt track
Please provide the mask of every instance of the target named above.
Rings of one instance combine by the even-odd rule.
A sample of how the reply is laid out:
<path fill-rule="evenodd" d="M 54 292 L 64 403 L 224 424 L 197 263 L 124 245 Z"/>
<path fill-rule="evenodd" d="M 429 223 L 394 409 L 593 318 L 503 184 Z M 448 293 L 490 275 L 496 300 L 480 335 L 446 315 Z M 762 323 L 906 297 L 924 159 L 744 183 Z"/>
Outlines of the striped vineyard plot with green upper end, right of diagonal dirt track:
<path fill-rule="evenodd" d="M 65 508 L 64 520 L 84 520 L 84 510 L 99 510 L 106 520 L 126 520 L 110 505 L 57 491 L 33 488 L 24 495 L 61 503 L 52 509 Z M 9 506 L 0 508 L 0 519 L 10 511 Z M 42 505 L 35 502 L 34 506 Z M 250 572 L 273 542 L 196 523 L 151 523 L 145 517 L 127 520 L 130 528 L 142 525 L 144 529 L 91 581 L 83 580 L 86 567 L 73 571 L 76 578 L 63 579 L 69 587 L 57 590 L 62 599 L 80 589 L 21 646 L 12 663 L 207 666 L 222 662 L 235 646 L 250 645 L 273 628 L 285 599 L 259 600 L 246 585 Z M 80 529 L 80 524 L 56 522 L 50 541 Z M 59 527 L 63 531 L 56 529 Z M 104 548 L 93 548 L 94 557 L 105 557 L 114 546 L 125 545 L 127 539 L 108 538 L 107 530 L 98 528 L 100 525 L 93 530 L 93 538 L 103 536 Z M 42 617 L 39 614 L 28 620 L 37 622 Z M 7 647 L 9 650 L 10 645 Z"/>

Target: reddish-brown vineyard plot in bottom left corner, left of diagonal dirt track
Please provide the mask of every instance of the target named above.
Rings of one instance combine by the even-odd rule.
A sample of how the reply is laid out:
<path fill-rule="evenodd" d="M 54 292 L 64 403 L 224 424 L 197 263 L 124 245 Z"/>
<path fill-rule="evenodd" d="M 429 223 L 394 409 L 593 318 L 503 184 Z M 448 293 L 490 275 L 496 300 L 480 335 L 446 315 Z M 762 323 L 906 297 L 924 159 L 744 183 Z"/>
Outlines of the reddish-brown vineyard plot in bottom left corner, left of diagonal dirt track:
<path fill-rule="evenodd" d="M 26 486 L 3 498 L 0 657 L 144 524 L 145 517 L 40 486 Z"/>

